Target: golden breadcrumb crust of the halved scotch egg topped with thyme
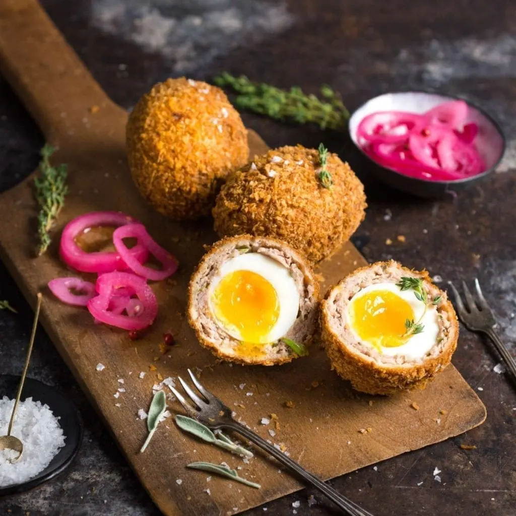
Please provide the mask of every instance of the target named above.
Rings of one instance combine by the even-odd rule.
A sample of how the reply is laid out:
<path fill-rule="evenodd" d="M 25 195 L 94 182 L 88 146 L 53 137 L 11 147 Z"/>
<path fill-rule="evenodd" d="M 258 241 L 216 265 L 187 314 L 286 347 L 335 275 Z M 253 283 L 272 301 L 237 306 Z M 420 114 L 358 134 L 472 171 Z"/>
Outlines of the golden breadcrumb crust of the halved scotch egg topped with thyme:
<path fill-rule="evenodd" d="M 391 261 L 379 262 L 378 264 L 390 265 L 392 263 Z M 344 283 L 350 276 L 371 266 L 361 267 L 353 271 L 338 285 Z M 401 265 L 399 267 L 412 276 L 415 275 L 422 278 L 425 283 L 431 283 L 427 271 L 417 272 Z M 457 348 L 459 323 L 453 305 L 448 299 L 440 305 L 440 310 L 446 312 L 450 321 L 448 338 L 442 352 L 435 358 L 425 358 L 420 364 L 406 366 L 382 365 L 357 352 L 351 346 L 347 346 L 341 337 L 330 327 L 327 307 L 328 297 L 338 285 L 330 288 L 320 305 L 321 340 L 330 358 L 332 369 L 345 380 L 349 380 L 354 389 L 368 394 L 382 395 L 393 395 L 405 390 L 424 389 L 427 382 L 450 363 L 451 356 Z M 443 296 L 445 297 L 444 293 Z"/>

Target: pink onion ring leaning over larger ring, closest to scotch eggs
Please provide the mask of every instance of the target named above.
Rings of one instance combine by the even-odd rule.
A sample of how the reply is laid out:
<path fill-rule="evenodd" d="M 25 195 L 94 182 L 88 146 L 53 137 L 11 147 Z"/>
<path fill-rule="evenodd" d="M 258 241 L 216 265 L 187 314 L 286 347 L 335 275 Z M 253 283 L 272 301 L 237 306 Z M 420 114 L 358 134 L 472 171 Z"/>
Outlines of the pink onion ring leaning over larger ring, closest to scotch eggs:
<path fill-rule="evenodd" d="M 123 243 L 124 238 L 137 238 L 138 243 L 141 243 L 162 263 L 163 269 L 156 270 L 142 265 L 137 258 L 131 254 L 131 250 L 125 247 Z M 117 228 L 113 233 L 113 244 L 127 266 L 136 274 L 148 280 L 164 280 L 178 269 L 178 261 L 175 257 L 152 239 L 143 224 L 127 224 Z"/>

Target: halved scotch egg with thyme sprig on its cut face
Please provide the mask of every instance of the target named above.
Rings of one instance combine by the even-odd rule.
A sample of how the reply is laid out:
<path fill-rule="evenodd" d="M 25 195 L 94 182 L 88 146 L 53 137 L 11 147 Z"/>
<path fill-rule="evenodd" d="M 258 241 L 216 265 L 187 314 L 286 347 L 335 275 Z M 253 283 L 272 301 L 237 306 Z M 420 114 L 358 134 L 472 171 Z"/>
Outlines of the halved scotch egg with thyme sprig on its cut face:
<path fill-rule="evenodd" d="M 322 342 L 332 369 L 358 391 L 423 389 L 450 362 L 459 325 L 426 271 L 378 262 L 353 271 L 321 302 Z"/>

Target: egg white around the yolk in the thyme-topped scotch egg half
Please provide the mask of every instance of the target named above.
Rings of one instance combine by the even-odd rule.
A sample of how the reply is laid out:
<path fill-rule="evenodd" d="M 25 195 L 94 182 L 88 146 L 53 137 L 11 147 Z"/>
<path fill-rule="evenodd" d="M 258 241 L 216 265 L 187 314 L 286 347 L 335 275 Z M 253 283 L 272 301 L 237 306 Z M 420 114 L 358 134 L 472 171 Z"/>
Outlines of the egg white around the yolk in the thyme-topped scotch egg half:
<path fill-rule="evenodd" d="M 352 320 L 349 314 L 349 309 L 354 301 L 364 296 L 369 292 L 374 291 L 390 291 L 401 299 L 407 301 L 412 310 L 414 311 L 414 320 L 418 320 L 425 310 L 425 305 L 422 301 L 416 299 L 413 290 L 402 291 L 395 283 L 375 283 L 373 285 L 368 285 L 363 288 L 360 292 L 357 292 L 349 301 L 347 310 L 346 310 L 346 319 L 347 326 L 351 330 L 353 336 L 359 342 L 366 342 L 373 346 L 372 343 L 368 341 L 362 340 L 357 331 L 353 328 Z M 437 336 L 439 334 L 439 324 L 438 324 L 438 314 L 437 308 L 434 306 L 429 306 L 426 310 L 426 313 L 421 321 L 421 324 L 424 325 L 424 330 L 421 333 L 417 333 L 416 335 L 412 335 L 409 337 L 408 341 L 401 346 L 396 347 L 382 347 L 382 354 L 394 357 L 396 355 L 405 355 L 408 358 L 418 359 L 423 358 L 425 354 L 432 348 L 434 344 L 437 342 Z M 376 349 L 376 348 L 375 348 Z"/>

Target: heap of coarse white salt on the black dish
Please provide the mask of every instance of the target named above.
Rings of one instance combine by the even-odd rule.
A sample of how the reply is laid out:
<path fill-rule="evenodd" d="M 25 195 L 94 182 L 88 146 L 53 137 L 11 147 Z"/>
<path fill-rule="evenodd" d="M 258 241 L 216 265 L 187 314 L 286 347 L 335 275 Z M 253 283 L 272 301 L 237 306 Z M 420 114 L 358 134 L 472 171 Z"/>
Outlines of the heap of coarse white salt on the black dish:
<path fill-rule="evenodd" d="M 7 434 L 14 400 L 0 399 L 0 435 Z M 65 436 L 49 406 L 27 398 L 20 401 L 14 420 L 13 435 L 23 442 L 22 458 L 14 463 L 8 459 L 15 455 L 12 450 L 0 451 L 0 487 L 20 484 L 42 472 L 60 448 Z"/>

